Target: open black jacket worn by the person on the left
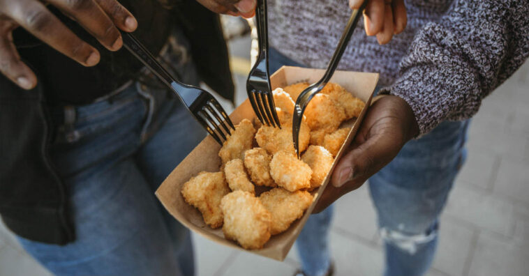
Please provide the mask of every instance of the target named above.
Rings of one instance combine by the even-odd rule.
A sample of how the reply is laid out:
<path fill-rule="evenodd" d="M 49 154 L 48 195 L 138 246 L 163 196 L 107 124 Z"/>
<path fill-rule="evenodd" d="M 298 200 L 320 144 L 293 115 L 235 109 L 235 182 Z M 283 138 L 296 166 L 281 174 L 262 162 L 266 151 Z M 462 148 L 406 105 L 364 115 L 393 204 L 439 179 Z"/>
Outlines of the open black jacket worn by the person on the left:
<path fill-rule="evenodd" d="M 179 2 L 172 12 L 191 43 L 202 80 L 233 100 L 228 49 L 218 16 L 191 0 Z M 66 187 L 48 156 L 54 125 L 45 89 L 39 82 L 32 91 L 24 91 L 0 75 L 0 215 L 19 236 L 64 245 L 75 240 L 75 233 Z"/>

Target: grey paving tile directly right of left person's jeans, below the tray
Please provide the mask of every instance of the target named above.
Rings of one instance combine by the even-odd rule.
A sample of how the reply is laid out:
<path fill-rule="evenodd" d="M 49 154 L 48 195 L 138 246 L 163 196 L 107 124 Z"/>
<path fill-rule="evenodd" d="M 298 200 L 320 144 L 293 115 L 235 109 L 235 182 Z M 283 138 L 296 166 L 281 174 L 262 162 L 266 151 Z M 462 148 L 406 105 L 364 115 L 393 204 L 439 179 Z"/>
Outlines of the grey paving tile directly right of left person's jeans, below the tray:
<path fill-rule="evenodd" d="M 195 246 L 195 267 L 198 270 L 198 276 L 214 275 L 235 251 L 195 233 L 193 233 L 193 245 Z"/>

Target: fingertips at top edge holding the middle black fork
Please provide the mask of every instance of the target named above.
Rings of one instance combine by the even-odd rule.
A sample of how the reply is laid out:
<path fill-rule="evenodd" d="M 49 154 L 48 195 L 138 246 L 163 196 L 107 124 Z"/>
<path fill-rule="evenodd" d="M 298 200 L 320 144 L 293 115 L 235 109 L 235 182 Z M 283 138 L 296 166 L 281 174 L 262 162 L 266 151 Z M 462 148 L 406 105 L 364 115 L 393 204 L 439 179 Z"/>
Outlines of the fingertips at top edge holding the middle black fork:
<path fill-rule="evenodd" d="M 256 0 L 197 0 L 214 13 L 250 18 L 255 15 Z"/>

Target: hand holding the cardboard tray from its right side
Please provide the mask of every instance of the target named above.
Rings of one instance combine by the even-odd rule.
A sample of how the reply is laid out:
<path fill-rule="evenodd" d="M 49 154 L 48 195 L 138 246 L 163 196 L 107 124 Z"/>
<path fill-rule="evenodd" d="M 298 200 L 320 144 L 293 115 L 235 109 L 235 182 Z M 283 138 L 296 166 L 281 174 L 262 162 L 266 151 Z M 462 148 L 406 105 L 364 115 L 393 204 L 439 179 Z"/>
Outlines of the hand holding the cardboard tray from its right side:
<path fill-rule="evenodd" d="M 341 158 L 313 213 L 362 186 L 419 134 L 412 109 L 403 99 L 384 95 L 368 109 L 349 152 Z"/>

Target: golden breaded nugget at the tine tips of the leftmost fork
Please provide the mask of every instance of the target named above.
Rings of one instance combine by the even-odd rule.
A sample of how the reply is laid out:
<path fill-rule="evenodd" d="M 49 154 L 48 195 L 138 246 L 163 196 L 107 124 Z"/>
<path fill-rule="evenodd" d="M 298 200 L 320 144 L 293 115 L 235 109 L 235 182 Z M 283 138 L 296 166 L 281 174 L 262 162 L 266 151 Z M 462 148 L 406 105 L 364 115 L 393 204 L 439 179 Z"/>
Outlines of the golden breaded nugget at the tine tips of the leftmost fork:
<path fill-rule="evenodd" d="M 245 118 L 239 125 L 235 125 L 232 135 L 226 139 L 221 151 L 218 151 L 222 164 L 237 158 L 243 160 L 244 152 L 252 148 L 253 135 L 255 135 L 255 128 L 250 120 Z"/>

